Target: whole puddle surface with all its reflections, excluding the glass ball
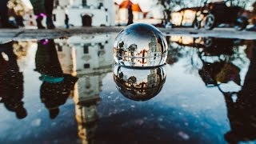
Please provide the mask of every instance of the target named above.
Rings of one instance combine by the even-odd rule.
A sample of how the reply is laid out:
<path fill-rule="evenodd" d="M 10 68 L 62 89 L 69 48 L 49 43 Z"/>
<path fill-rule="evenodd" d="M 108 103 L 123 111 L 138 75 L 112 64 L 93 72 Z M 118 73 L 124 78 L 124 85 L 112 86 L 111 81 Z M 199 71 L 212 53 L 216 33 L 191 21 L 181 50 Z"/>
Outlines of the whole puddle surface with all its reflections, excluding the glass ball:
<path fill-rule="evenodd" d="M 0 143 L 256 138 L 255 42 L 171 36 L 166 66 L 133 70 L 113 65 L 115 36 L 1 45 Z"/>

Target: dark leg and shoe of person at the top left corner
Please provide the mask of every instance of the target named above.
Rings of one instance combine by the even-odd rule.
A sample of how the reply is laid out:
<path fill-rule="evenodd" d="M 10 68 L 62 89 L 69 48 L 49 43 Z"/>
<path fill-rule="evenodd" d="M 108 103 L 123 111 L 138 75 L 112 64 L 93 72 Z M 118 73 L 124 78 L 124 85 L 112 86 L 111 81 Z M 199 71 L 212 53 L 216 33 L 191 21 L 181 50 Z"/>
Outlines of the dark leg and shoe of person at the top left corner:
<path fill-rule="evenodd" d="M 9 22 L 9 16 L 8 16 L 8 7 L 7 3 L 9 0 L 1 0 L 0 1 L 0 18 L 1 18 L 1 24 L 2 28 L 18 28 L 18 26 L 15 26 L 14 24 Z"/>

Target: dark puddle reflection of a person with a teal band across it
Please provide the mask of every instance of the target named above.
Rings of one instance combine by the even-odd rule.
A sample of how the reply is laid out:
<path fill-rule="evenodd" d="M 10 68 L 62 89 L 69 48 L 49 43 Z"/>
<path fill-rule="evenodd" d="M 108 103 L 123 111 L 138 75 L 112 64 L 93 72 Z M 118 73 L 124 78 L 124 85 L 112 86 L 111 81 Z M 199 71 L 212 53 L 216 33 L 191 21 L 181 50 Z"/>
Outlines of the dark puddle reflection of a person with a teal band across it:
<path fill-rule="evenodd" d="M 74 90 L 78 78 L 63 74 L 53 39 L 38 42 L 35 62 L 42 80 L 40 98 L 49 110 L 50 118 L 54 119 L 58 116 L 59 106 L 66 103 L 71 90 Z"/>

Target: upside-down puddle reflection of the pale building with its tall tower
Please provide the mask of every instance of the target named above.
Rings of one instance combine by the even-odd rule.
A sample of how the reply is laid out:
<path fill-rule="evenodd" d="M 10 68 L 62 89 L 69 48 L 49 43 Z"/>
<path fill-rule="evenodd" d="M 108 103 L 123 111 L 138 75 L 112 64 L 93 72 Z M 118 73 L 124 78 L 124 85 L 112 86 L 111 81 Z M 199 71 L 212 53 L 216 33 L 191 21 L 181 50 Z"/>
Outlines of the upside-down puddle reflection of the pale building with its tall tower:
<path fill-rule="evenodd" d="M 94 141 L 102 78 L 112 72 L 112 51 L 106 48 L 112 47 L 113 42 L 111 34 L 55 40 L 62 70 L 78 78 L 71 97 L 75 103 L 78 137 L 82 143 Z"/>

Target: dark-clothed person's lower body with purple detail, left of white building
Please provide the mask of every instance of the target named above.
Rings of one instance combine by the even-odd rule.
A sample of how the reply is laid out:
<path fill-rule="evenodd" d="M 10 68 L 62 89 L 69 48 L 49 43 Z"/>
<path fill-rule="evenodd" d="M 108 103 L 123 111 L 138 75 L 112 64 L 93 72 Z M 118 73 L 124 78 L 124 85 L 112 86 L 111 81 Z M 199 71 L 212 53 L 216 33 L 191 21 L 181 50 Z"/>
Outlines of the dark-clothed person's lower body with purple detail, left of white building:
<path fill-rule="evenodd" d="M 34 14 L 36 15 L 36 22 L 38 29 L 46 29 L 42 25 L 42 19 L 46 16 L 46 26 L 48 29 L 55 29 L 53 22 L 53 10 L 54 10 L 54 0 L 30 0 Z"/>

